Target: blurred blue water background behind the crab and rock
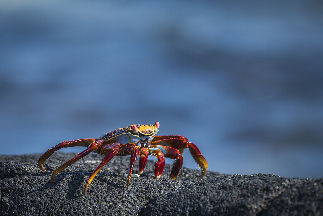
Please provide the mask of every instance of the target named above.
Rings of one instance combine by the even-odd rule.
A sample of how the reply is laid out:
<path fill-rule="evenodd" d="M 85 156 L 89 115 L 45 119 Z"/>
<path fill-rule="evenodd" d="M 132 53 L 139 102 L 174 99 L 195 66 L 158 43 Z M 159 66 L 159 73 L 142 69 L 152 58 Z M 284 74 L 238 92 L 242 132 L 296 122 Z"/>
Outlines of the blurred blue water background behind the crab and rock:
<path fill-rule="evenodd" d="M 321 1 L 2 0 L 0 154 L 159 121 L 209 170 L 323 177 L 322 38 Z"/>

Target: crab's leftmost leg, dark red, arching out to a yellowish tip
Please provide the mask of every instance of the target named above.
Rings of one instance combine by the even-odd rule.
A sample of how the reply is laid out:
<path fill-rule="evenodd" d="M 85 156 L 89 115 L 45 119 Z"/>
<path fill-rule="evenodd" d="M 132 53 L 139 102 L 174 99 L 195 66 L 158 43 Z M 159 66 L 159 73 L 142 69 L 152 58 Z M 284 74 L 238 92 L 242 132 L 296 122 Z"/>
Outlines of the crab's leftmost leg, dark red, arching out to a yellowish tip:
<path fill-rule="evenodd" d="M 44 162 L 57 150 L 61 148 L 67 148 L 67 147 L 73 147 L 73 146 L 84 146 L 88 147 L 92 143 L 96 142 L 98 139 L 77 139 L 77 140 L 71 140 L 71 141 L 64 141 L 54 147 L 51 147 L 48 149 L 39 159 L 38 159 L 38 166 L 39 168 L 45 172 L 44 169 Z"/>

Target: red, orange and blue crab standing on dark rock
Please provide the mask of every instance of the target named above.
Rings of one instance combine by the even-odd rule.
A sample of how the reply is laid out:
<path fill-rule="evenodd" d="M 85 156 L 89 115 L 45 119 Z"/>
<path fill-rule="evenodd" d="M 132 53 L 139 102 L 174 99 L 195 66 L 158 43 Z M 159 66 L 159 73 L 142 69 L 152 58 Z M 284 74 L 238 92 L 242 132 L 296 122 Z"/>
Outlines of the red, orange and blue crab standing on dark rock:
<path fill-rule="evenodd" d="M 165 159 L 172 158 L 175 160 L 170 178 L 176 179 L 183 164 L 183 157 L 180 150 L 189 148 L 190 153 L 196 163 L 202 168 L 201 179 L 204 177 L 208 164 L 205 158 L 201 155 L 200 150 L 186 137 L 182 135 L 168 135 L 168 136 L 156 136 L 159 131 L 159 122 L 154 125 L 151 124 L 131 124 L 130 126 L 118 128 L 109 131 L 101 135 L 98 139 L 78 139 L 71 141 L 64 141 L 54 147 L 48 149 L 39 159 L 38 166 L 45 172 L 44 162 L 57 150 L 61 148 L 73 147 L 73 146 L 84 146 L 87 147 L 84 151 L 79 153 L 76 157 L 70 159 L 62 166 L 58 167 L 53 171 L 51 181 L 55 182 L 55 177 L 63 169 L 78 161 L 82 157 L 85 157 L 91 152 L 101 154 L 105 156 L 102 162 L 94 170 L 92 175 L 89 177 L 84 188 L 84 194 L 89 187 L 89 184 L 97 173 L 106 165 L 111 158 L 114 156 L 129 156 L 130 155 L 130 167 L 128 172 L 128 180 L 126 187 L 129 187 L 130 178 L 132 174 L 133 165 L 139 156 L 139 172 L 141 175 L 147 163 L 147 157 L 153 155 L 157 157 L 157 162 L 154 167 L 155 178 L 160 178 L 161 173 L 165 167 Z M 178 150 L 180 149 L 180 150 Z"/>

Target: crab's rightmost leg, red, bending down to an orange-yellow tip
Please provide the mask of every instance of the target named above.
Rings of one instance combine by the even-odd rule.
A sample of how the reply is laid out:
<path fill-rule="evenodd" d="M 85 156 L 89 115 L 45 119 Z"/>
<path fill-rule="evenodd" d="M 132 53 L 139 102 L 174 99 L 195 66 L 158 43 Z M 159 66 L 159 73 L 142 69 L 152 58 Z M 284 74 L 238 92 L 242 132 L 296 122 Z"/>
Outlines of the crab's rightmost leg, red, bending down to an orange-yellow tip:
<path fill-rule="evenodd" d="M 176 137 L 176 138 L 175 138 Z M 178 137 L 178 138 L 177 138 Z M 163 139 L 166 138 L 166 139 Z M 183 136 L 155 136 L 152 140 L 151 145 L 161 145 L 161 146 L 170 146 L 172 148 L 189 148 L 190 153 L 196 163 L 202 168 L 201 179 L 204 177 L 208 164 L 201 154 L 198 147 L 196 147 L 193 143 L 189 142 Z"/>

